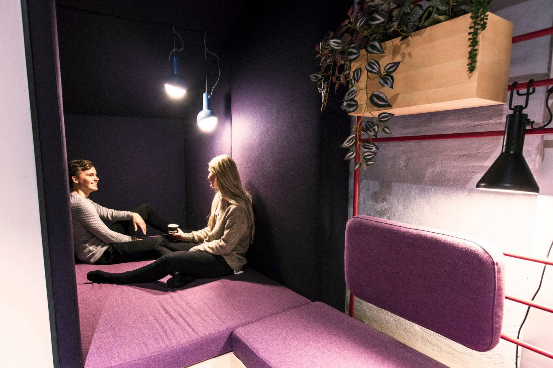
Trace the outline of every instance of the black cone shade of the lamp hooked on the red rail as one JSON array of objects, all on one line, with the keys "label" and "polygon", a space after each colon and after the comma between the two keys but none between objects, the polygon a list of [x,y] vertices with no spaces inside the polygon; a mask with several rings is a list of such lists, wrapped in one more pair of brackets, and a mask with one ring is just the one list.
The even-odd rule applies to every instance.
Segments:
[{"label": "black cone shade of the lamp hooked on the red rail", "polygon": [[502,152],[478,181],[476,188],[540,193],[522,153]]}]

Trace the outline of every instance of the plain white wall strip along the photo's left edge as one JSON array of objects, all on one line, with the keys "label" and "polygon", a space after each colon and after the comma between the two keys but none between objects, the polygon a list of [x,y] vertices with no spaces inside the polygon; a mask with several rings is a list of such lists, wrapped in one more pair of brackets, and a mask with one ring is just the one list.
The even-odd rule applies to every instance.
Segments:
[{"label": "plain white wall strip along the photo's left edge", "polygon": [[0,1],[0,126],[0,365],[52,367],[19,0]]}]

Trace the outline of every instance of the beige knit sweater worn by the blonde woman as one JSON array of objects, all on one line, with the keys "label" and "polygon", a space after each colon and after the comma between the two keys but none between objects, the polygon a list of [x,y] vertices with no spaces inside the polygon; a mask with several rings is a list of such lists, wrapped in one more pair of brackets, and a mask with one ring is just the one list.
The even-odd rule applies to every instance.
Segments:
[{"label": "beige knit sweater worn by the blonde woman", "polygon": [[252,223],[248,221],[246,210],[229,204],[216,213],[215,226],[185,234],[185,241],[202,243],[192,247],[190,252],[204,252],[221,255],[234,271],[240,271],[246,264],[246,252],[252,241]]}]

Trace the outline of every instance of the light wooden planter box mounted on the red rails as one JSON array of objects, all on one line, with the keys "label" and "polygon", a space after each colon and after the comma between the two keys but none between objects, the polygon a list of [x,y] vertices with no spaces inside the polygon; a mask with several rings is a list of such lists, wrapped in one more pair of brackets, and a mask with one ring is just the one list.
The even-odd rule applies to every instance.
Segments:
[{"label": "light wooden planter box mounted on the red rails", "polygon": [[369,60],[378,60],[382,71],[389,62],[401,61],[392,75],[394,89],[382,87],[376,77],[367,82],[367,53],[363,50],[352,62],[351,70],[362,68],[356,100],[359,107],[350,115],[369,115],[365,103],[367,94],[381,91],[387,95],[392,108],[375,108],[373,114],[387,111],[395,115],[430,113],[505,103],[509,79],[509,63],[513,23],[488,13],[488,26],[478,37],[476,70],[469,74],[468,27],[470,14],[421,29],[413,38],[399,38],[382,44],[385,54],[369,54]]}]

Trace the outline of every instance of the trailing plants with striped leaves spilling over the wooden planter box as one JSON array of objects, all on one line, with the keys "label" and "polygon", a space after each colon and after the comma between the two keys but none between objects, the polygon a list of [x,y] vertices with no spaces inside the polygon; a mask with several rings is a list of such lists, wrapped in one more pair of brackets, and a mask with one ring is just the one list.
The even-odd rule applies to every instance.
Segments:
[{"label": "trailing plants with striped leaves spilling over the wooden planter box", "polygon": [[[372,113],[373,108],[392,107],[387,95],[380,91],[371,92],[367,87],[360,89],[355,87],[361,79],[362,68],[357,67],[352,70],[352,62],[359,58],[361,50],[364,49],[367,54],[365,63],[367,82],[378,78],[380,85],[393,89],[395,81],[392,74],[398,69],[400,62],[388,63],[382,69],[380,63],[371,57],[374,54],[384,54],[382,42],[397,37],[404,40],[418,29],[468,14],[471,10],[474,11],[475,3],[486,2],[487,4],[489,1],[431,0],[429,6],[424,9],[420,4],[411,4],[411,0],[358,0],[357,7],[349,8],[347,18],[338,29],[335,32],[329,31],[316,45],[320,71],[310,75],[311,80],[317,83],[321,94],[321,111],[326,107],[332,87],[335,93],[338,88],[341,88],[340,93],[343,93],[341,108],[347,113],[352,113],[359,108],[357,94],[366,94],[366,103],[361,115],[370,115],[370,117],[364,118],[362,124],[356,125],[354,134],[342,144],[341,147],[349,148],[345,159],[353,159],[359,153],[364,168],[371,166],[375,163],[374,157],[379,151],[378,146],[372,142],[372,138],[381,133],[392,134],[390,127],[384,124],[394,115],[380,113],[375,116]],[[481,5],[478,6],[484,11],[482,15],[485,16],[487,5],[484,8]],[[474,33],[474,30],[472,32]],[[476,33],[477,36],[478,33]],[[474,59],[476,62],[476,56]],[[368,86],[368,83],[365,86]],[[358,140],[361,134],[366,134],[369,141],[361,143]],[[359,166],[360,163],[356,163],[355,169]]]}]

